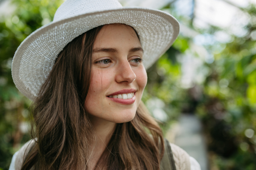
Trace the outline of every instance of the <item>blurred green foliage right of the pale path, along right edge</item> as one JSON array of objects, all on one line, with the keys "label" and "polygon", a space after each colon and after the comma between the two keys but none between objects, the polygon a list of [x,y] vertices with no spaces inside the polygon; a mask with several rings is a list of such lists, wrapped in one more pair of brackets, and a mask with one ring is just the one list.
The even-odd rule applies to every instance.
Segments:
[{"label": "blurred green foliage right of the pale path, along right edge", "polygon": [[[250,10],[256,11],[255,7]],[[248,28],[252,32],[256,25]],[[216,155],[219,170],[256,169],[255,46],[248,35],[234,37],[215,54],[212,64],[206,64],[211,74],[204,82],[204,99],[197,113],[204,122],[208,148]]]}]

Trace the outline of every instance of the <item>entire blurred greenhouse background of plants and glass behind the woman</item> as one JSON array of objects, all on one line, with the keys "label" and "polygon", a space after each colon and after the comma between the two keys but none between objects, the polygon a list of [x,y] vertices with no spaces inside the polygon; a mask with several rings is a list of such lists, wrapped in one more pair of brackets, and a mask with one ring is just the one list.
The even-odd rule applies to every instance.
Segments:
[{"label": "entire blurred greenhouse background of plants and glass behind the woman", "polygon": [[[180,35],[148,69],[143,101],[202,170],[256,170],[256,0],[119,0],[172,14]],[[18,45],[63,0],[0,0],[0,170],[27,142],[31,101],[11,75]]]}]

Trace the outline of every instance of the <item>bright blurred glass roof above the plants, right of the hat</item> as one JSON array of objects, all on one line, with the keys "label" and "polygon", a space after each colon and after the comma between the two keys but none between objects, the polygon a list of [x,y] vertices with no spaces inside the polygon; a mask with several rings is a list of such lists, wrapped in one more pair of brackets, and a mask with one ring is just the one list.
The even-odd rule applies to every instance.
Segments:
[{"label": "bright blurred glass roof above the plants, right of the hat", "polygon": [[[173,10],[167,12],[175,17],[183,16],[192,20],[195,28],[207,29],[209,26],[216,26],[238,37],[243,37],[247,33],[243,27],[250,22],[248,14],[243,9],[256,5],[256,0],[119,0],[119,2],[123,6],[155,9],[162,9],[172,4]],[[256,22],[256,18],[253,18],[253,21]]]}]

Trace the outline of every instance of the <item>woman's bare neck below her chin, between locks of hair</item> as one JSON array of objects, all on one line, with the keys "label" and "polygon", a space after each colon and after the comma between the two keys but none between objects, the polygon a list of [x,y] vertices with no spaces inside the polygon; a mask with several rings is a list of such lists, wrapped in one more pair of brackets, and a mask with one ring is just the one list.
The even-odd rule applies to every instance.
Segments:
[{"label": "woman's bare neck below her chin, between locks of hair", "polygon": [[96,142],[91,145],[92,154],[89,159],[89,170],[94,170],[94,167],[99,162],[102,153],[106,149],[108,142],[111,139],[111,136],[116,127],[116,123],[96,117],[90,117],[90,121],[97,135]]}]

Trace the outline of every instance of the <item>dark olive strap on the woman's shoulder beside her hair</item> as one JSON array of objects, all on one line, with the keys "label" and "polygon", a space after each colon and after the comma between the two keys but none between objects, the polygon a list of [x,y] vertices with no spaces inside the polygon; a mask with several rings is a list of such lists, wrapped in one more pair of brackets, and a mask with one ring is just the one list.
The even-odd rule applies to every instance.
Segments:
[{"label": "dark olive strap on the woman's shoulder beside her hair", "polygon": [[165,149],[163,159],[160,163],[160,170],[176,170],[175,162],[173,159],[172,148],[168,140],[165,139]]}]

